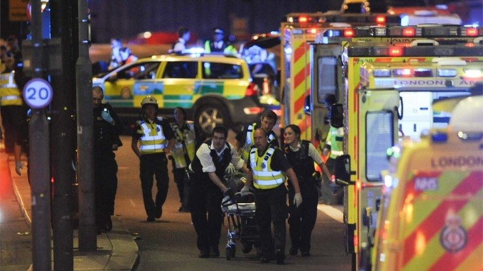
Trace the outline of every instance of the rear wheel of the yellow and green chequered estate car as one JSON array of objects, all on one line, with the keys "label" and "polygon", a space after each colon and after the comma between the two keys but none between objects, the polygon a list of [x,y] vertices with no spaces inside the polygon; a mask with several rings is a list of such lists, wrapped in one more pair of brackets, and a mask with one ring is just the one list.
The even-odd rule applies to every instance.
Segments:
[{"label": "rear wheel of the yellow and green chequered estate car", "polygon": [[230,127],[230,116],[222,105],[217,103],[202,104],[194,114],[194,121],[204,135],[211,135],[213,128],[224,125]]}]

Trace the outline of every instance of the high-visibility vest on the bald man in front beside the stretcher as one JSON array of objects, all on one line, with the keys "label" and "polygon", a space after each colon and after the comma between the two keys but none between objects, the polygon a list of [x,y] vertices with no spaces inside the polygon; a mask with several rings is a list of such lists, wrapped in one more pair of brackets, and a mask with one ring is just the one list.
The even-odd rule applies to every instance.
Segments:
[{"label": "high-visibility vest on the bald man in front beside the stretcher", "polygon": [[272,170],[272,156],[275,149],[270,147],[259,157],[258,149],[250,152],[250,166],[253,173],[253,186],[257,189],[272,189],[284,183],[285,176],[282,171]]}]

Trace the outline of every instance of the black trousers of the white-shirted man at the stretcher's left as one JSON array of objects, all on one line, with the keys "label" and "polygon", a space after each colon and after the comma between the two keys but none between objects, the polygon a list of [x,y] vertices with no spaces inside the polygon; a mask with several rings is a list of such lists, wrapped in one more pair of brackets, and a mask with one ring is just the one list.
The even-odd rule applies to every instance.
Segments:
[{"label": "black trousers of the white-shirted man at the stretcher's left", "polygon": [[190,174],[188,208],[198,235],[199,250],[218,248],[223,223],[222,199],[223,193],[207,174]]}]

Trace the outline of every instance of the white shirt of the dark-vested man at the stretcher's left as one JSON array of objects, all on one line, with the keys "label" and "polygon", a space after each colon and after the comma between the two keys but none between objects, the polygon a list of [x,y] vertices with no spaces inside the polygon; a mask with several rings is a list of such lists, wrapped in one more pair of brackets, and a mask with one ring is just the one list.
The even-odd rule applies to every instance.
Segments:
[{"label": "white shirt of the dark-vested man at the stretcher's left", "polygon": [[[235,166],[237,170],[241,169],[243,167],[244,161],[241,159],[240,154],[238,153],[237,149],[233,147],[232,144],[228,143],[231,149],[231,154],[232,154],[232,160],[231,162]],[[215,150],[213,146],[213,142],[211,143],[211,147],[208,147],[208,144],[201,144],[199,146],[198,150],[196,151],[196,156],[198,157],[201,166],[203,167],[202,170],[203,172],[215,172],[216,167],[215,164],[213,163],[213,158],[211,157],[211,150],[215,150],[216,155],[218,155],[219,158],[221,158],[221,155],[225,151],[225,149],[228,148],[226,145],[223,146],[223,149],[218,152]],[[190,169],[192,169],[191,164],[190,164]]]}]

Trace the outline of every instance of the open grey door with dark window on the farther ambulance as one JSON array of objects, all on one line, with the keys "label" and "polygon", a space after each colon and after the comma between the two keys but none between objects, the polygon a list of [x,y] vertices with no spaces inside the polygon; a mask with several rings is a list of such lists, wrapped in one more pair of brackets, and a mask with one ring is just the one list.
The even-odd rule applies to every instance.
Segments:
[{"label": "open grey door with dark window on the farther ambulance", "polygon": [[[311,116],[311,141],[322,150],[329,132],[329,118],[324,99],[328,94],[336,96],[337,103],[344,104],[343,93],[339,86],[342,84],[340,44],[310,45],[310,74],[312,85],[310,96],[306,99],[305,113]],[[344,105],[345,106],[345,105]]]}]

